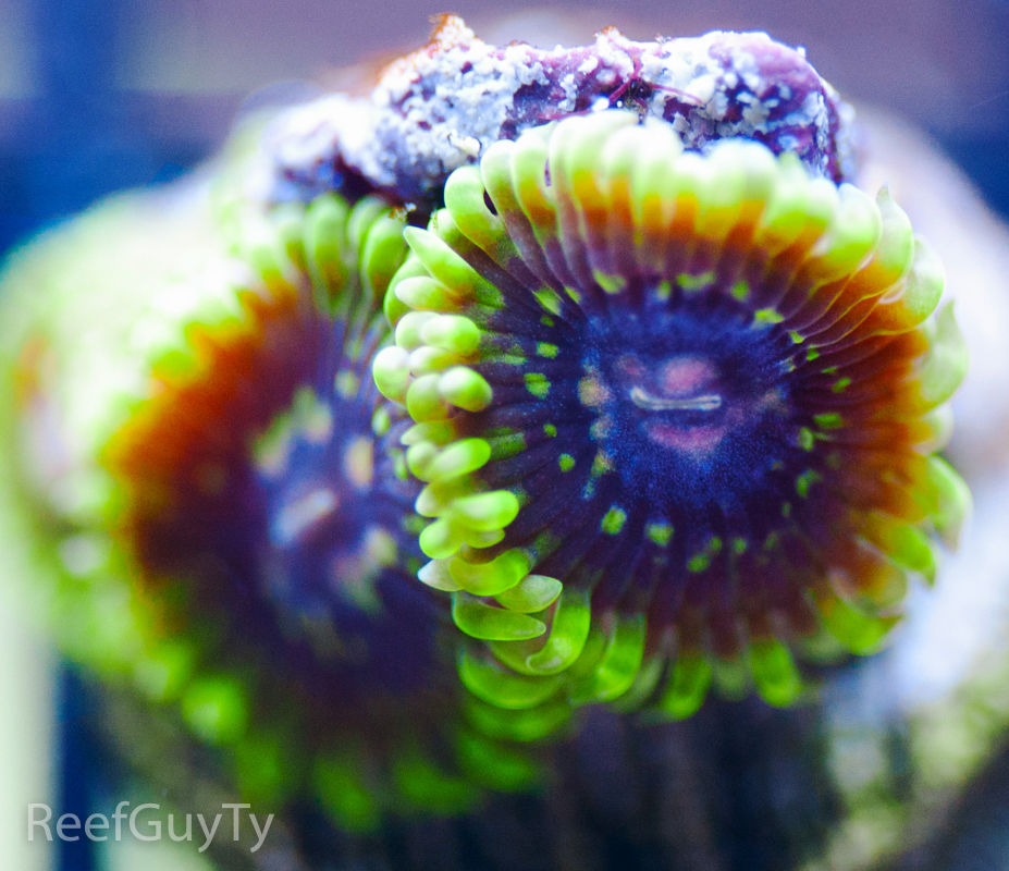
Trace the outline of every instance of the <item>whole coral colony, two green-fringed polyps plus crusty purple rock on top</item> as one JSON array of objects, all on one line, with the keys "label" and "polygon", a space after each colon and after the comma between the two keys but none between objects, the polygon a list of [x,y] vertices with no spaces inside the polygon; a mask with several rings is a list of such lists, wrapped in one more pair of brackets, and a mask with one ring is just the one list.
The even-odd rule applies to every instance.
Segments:
[{"label": "whole coral colony, two green-fringed polyps plus crusty purple rock on top", "polygon": [[969,501],[965,352],[851,123],[763,34],[446,17],[29,246],[5,430],[66,654],[361,831],[528,788],[581,706],[876,649]]}]

